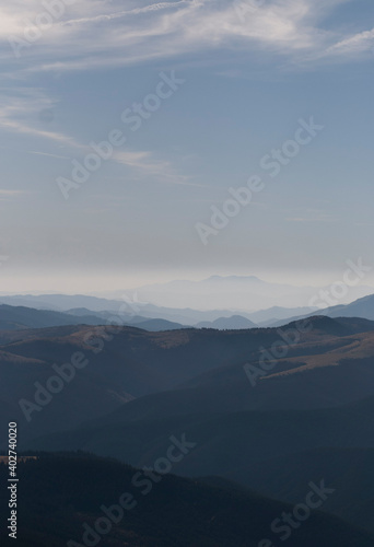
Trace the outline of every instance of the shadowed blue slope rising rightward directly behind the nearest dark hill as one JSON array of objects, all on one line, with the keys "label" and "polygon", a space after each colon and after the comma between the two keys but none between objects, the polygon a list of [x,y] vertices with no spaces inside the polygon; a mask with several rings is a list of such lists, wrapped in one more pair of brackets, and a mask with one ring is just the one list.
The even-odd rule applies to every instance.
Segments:
[{"label": "shadowed blue slope rising rightward directly behind the nearest dark hill", "polygon": [[[124,407],[124,410],[126,407]],[[120,412],[34,441],[38,450],[85,450],[152,466],[171,433],[197,447],[178,465],[188,477],[214,474],[297,503],[303,485],[324,478],[337,494],[324,508],[374,532],[374,397],[319,410],[252,411],[118,421]]]}]

